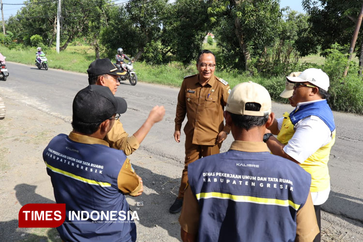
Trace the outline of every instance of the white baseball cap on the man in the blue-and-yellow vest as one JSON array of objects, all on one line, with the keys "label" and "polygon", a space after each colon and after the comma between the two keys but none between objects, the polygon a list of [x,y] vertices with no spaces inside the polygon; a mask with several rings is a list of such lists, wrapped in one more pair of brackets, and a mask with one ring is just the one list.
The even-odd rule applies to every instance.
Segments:
[{"label": "white baseball cap on the man in the blue-and-yellow vest", "polygon": [[309,68],[303,71],[299,76],[287,76],[287,80],[292,82],[310,82],[311,84],[328,91],[329,76],[321,69]]}]

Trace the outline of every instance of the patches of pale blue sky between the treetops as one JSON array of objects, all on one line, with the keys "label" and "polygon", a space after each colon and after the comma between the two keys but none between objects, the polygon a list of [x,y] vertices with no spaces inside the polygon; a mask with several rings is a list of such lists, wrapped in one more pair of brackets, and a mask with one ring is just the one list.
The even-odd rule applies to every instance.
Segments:
[{"label": "patches of pale blue sky between the treetops", "polygon": [[[124,2],[125,0],[116,0],[113,3]],[[24,0],[2,0],[2,3],[24,3]],[[15,15],[16,11],[19,10],[24,5],[3,5],[4,19],[8,19],[11,15]],[[292,10],[304,13],[301,5],[301,0],[280,0],[280,6],[289,6]]]}]

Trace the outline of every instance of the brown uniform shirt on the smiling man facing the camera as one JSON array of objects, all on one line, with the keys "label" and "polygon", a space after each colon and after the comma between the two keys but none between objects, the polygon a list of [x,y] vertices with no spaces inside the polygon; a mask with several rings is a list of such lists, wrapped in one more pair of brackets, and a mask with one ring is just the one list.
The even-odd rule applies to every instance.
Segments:
[{"label": "brown uniform shirt on the smiling man facing the camera", "polygon": [[192,143],[215,145],[221,131],[230,131],[223,119],[229,92],[228,83],[217,76],[213,75],[204,86],[200,85],[198,74],[184,77],[178,95],[175,130],[181,130],[186,115],[184,133],[193,136]]}]

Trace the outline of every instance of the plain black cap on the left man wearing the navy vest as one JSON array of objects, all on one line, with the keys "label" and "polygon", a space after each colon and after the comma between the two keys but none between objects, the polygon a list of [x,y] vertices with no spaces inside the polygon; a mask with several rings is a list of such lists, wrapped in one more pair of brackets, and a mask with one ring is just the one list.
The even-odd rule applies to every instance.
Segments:
[{"label": "plain black cap on the left man wearing the navy vest", "polygon": [[108,87],[99,85],[90,85],[78,91],[73,100],[73,119],[84,123],[101,123],[126,110],[125,99],[115,97]]}]

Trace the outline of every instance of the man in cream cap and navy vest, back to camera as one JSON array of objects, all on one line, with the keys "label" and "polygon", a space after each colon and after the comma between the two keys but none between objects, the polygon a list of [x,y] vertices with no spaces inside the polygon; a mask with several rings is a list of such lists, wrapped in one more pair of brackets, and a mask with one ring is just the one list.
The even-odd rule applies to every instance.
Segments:
[{"label": "man in cream cap and navy vest, back to camera", "polygon": [[312,242],[319,229],[311,175],[263,142],[274,120],[269,92],[257,83],[238,84],[224,115],[234,141],[227,152],[189,165],[181,240]]}]

